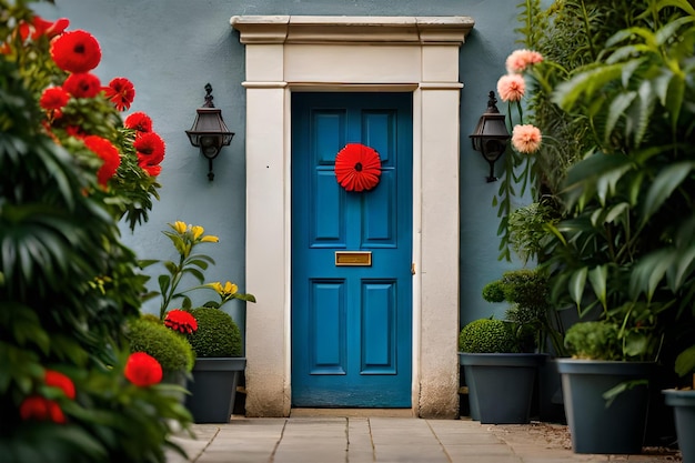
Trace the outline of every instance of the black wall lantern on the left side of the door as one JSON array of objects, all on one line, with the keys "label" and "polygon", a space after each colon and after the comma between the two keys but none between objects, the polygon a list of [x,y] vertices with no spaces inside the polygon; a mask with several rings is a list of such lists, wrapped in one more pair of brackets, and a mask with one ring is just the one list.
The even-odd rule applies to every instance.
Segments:
[{"label": "black wall lantern on the left side of the door", "polygon": [[191,144],[200,148],[200,152],[208,158],[208,179],[214,180],[212,172],[212,160],[220,154],[222,147],[229,147],[234,133],[230,132],[222,119],[222,110],[212,103],[212,85],[205,85],[205,103],[198,108],[198,114],[191,130],[187,130]]}]

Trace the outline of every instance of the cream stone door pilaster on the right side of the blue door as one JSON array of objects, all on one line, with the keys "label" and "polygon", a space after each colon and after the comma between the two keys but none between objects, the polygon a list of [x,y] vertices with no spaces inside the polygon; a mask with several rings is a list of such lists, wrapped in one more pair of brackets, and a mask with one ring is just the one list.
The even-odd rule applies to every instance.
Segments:
[{"label": "cream stone door pilaster on the right side of the blue door", "polygon": [[[422,264],[420,416],[459,414],[459,114],[460,87],[421,85]],[[447,248],[449,255],[442,245]],[[455,259],[452,259],[455,256]]]}]

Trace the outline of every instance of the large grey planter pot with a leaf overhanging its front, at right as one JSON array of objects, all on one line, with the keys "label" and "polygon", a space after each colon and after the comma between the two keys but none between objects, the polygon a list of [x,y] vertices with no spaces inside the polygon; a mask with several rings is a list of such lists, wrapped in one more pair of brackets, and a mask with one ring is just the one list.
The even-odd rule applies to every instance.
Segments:
[{"label": "large grey planter pot with a leaf overhanging its front, at right", "polygon": [[627,381],[648,380],[654,366],[653,362],[557,360],[574,452],[642,453],[648,385],[622,392],[610,406],[603,394]]}]

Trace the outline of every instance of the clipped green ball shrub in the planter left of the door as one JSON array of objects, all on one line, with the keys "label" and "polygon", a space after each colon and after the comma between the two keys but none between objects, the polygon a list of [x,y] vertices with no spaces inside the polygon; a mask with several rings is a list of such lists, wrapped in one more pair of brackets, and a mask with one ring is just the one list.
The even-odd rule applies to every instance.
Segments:
[{"label": "clipped green ball shrub in the planter left of the door", "polygon": [[191,309],[198,330],[188,335],[197,356],[241,356],[241,331],[231,315],[215,308]]}]

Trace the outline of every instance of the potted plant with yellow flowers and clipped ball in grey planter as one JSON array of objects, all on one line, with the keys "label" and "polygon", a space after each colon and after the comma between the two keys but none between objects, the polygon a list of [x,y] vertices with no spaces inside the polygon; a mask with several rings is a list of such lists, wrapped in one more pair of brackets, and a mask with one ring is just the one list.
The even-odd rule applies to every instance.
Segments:
[{"label": "potted plant with yellow flowers and clipped ball in grey planter", "polygon": [[[241,356],[239,326],[231,315],[222,311],[222,306],[232,300],[255,302],[255,298],[253,294],[239,292],[238,285],[230,281],[224,284],[203,283],[205,270],[215,262],[211,256],[197,252],[197,246],[215,243],[219,241],[216,236],[204,234],[204,229],[200,225],[181,221],[170,223],[169,227],[171,231],[163,233],[171,240],[179,259],[162,262],[167,273],[158,278],[160,291],[149,293],[148,298],[161,296],[160,319],[172,330],[187,335],[187,342],[195,355],[192,376],[187,383],[190,395],[185,400],[193,421],[226,423],[231,419],[236,384],[246,360]],[[141,265],[144,268],[159,262],[141,261]],[[187,275],[200,284],[179,290]],[[213,291],[219,300],[211,300],[192,309],[190,293],[198,290]],[[181,309],[169,310],[179,300]],[[211,375],[214,376],[213,380],[209,380]]]}]

